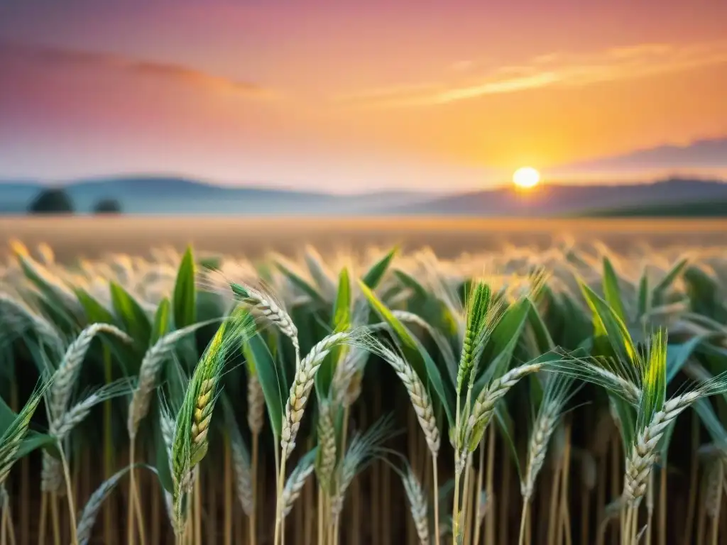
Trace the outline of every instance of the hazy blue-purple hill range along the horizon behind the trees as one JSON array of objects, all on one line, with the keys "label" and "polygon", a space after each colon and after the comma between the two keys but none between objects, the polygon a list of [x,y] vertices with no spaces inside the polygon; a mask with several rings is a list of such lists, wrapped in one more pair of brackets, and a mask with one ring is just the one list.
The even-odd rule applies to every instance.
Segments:
[{"label": "hazy blue-purple hill range along the horizon behind the trees", "polygon": [[[42,190],[35,182],[0,182],[0,213],[23,213]],[[455,195],[383,191],[330,195],[264,187],[226,187],[183,177],[109,177],[65,185],[76,210],[113,198],[130,214],[433,214],[465,216],[715,215],[727,183],[672,178],[647,184],[500,187]],[[700,206],[699,203],[710,203]],[[661,210],[658,212],[657,209]]]}]

